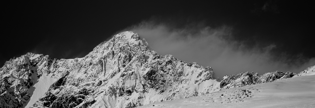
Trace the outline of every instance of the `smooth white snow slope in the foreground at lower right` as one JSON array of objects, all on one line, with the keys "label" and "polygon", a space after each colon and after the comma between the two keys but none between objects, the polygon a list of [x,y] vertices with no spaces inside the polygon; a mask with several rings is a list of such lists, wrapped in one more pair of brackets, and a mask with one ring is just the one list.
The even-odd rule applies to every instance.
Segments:
[{"label": "smooth white snow slope in the foreground at lower right", "polygon": [[315,75],[225,89],[139,108],[315,108]]}]

